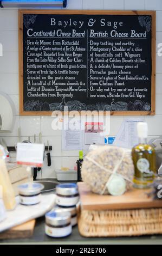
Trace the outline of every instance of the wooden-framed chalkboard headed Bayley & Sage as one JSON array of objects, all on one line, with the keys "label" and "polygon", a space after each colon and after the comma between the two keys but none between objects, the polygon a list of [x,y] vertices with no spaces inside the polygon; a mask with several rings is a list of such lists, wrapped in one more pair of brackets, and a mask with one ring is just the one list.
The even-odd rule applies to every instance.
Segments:
[{"label": "wooden-framed chalkboard headed Bayley & Sage", "polygon": [[155,114],[155,11],[19,10],[20,114]]}]

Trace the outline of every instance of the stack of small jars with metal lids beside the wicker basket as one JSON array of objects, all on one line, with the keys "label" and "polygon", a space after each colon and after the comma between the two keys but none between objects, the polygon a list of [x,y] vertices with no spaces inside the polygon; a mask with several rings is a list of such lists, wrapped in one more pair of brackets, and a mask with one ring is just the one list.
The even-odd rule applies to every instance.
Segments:
[{"label": "stack of small jars with metal lids beside the wicker basket", "polygon": [[77,184],[64,183],[56,186],[56,206],[46,214],[46,234],[51,237],[64,237],[72,233],[77,224]]}]

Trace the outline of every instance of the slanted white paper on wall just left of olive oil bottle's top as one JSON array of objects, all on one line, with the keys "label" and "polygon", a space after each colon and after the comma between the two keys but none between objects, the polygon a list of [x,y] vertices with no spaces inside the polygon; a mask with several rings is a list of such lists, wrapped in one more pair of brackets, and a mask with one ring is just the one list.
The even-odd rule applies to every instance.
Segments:
[{"label": "slanted white paper on wall just left of olive oil bottle's top", "polygon": [[143,122],[144,118],[125,119],[113,142],[114,146],[133,148],[138,144],[137,123]]}]

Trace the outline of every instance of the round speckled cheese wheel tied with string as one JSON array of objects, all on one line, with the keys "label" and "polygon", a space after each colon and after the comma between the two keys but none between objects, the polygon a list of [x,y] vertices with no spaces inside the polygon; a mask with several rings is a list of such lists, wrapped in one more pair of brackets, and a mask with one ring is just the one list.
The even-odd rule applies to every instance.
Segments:
[{"label": "round speckled cheese wheel tied with string", "polygon": [[125,190],[132,187],[134,166],[131,154],[122,148],[100,146],[86,155],[81,169],[82,180],[92,192],[109,194],[106,185],[114,170],[125,180]]}]

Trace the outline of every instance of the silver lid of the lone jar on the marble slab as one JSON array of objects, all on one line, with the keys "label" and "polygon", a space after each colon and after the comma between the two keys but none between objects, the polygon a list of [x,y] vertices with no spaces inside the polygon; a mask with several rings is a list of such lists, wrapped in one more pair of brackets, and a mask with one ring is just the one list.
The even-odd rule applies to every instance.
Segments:
[{"label": "silver lid of the lone jar on the marble slab", "polygon": [[18,186],[18,192],[22,196],[33,196],[34,194],[39,194],[43,190],[44,186],[37,182],[27,182]]}]

